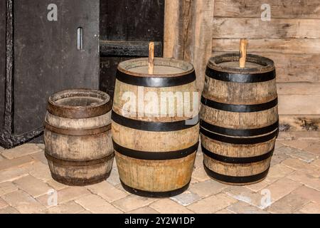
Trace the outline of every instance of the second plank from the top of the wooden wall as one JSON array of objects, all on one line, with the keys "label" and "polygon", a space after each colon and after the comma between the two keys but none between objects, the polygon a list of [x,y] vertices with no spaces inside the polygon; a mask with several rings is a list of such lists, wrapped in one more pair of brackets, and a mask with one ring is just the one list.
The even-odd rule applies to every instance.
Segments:
[{"label": "second plank from the top of the wooden wall", "polygon": [[[290,8],[291,9],[291,8]],[[213,19],[213,38],[320,38],[319,19]]]}]

